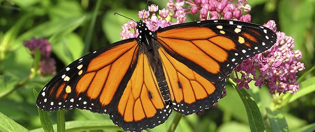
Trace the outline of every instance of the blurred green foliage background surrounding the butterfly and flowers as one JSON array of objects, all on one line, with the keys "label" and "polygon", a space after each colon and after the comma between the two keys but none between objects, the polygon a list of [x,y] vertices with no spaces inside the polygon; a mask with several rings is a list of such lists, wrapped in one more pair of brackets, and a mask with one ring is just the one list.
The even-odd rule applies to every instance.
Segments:
[{"label": "blurred green foliage background surrounding the butterfly and flowers", "polygon": [[[165,1],[153,1],[165,7]],[[139,20],[146,1],[0,1],[0,131],[82,131],[122,129],[106,115],[83,110],[46,112],[37,109],[37,92],[52,78],[40,76],[35,59],[23,41],[48,39],[60,70],[80,56],[120,40],[121,26]],[[164,4],[164,5],[161,5]],[[227,84],[227,96],[215,109],[181,116],[173,113],[149,131],[314,131],[314,1],[253,1],[252,19],[272,18],[278,30],[295,39],[307,72],[301,72],[296,94],[271,95],[268,88],[238,90]],[[263,14],[263,15],[262,15]],[[230,85],[232,84],[232,85]],[[34,90],[33,90],[34,89]],[[33,91],[32,91],[33,90]],[[34,93],[33,93],[34,92]],[[57,115],[57,117],[55,117]]]}]

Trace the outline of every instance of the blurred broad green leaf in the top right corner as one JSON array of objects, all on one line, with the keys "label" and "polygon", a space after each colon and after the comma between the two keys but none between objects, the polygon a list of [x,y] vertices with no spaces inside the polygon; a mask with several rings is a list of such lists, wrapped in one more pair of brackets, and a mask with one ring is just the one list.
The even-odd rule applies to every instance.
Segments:
[{"label": "blurred broad green leaf in the top right corner", "polygon": [[292,36],[295,39],[294,48],[300,49],[303,56],[306,55],[309,60],[312,60],[314,55],[312,52],[308,52],[309,49],[306,49],[304,44],[305,36],[310,34],[310,32],[307,31],[313,26],[313,7],[314,2],[307,0],[279,1],[278,4],[279,25],[281,31],[286,32],[288,36]]}]

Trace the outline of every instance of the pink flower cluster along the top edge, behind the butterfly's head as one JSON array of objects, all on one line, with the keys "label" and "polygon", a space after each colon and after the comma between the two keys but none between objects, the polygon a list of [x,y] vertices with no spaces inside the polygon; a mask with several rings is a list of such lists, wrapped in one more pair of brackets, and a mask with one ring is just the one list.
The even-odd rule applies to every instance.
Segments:
[{"label": "pink flower cluster along the top edge, behind the butterfly's head", "polygon": [[[138,13],[151,31],[157,30],[159,27],[166,27],[173,24],[183,23],[186,20],[186,14],[196,15],[198,12],[200,20],[210,19],[231,19],[244,22],[250,22],[249,14],[242,15],[244,12],[249,12],[251,7],[247,5],[246,0],[239,0],[237,5],[231,3],[232,0],[170,0],[166,7],[167,9],[159,10],[159,6],[150,5],[148,11],[141,10]],[[159,17],[157,16],[159,11]],[[151,14],[151,17],[150,17]],[[176,18],[176,22],[172,22],[167,17]],[[120,32],[121,40],[138,37],[138,30],[135,21],[124,23]]]}]

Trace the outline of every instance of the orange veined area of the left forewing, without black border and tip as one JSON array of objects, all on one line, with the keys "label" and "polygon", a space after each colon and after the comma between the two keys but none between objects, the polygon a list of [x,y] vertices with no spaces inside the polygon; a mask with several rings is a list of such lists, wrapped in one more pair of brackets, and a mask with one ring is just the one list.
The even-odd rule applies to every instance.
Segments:
[{"label": "orange veined area of the left forewing, without black border and tip", "polygon": [[76,92],[86,92],[90,100],[99,97],[102,106],[111,103],[122,78],[134,61],[139,48],[137,44],[137,41],[125,43],[93,58],[76,84]]}]

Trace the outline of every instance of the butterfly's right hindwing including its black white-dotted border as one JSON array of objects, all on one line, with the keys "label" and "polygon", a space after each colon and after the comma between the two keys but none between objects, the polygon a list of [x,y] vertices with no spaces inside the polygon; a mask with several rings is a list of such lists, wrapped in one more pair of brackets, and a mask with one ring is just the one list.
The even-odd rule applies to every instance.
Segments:
[{"label": "butterfly's right hindwing including its black white-dotted border", "polygon": [[190,115],[211,108],[222,96],[225,79],[214,83],[159,49],[175,111]]}]

